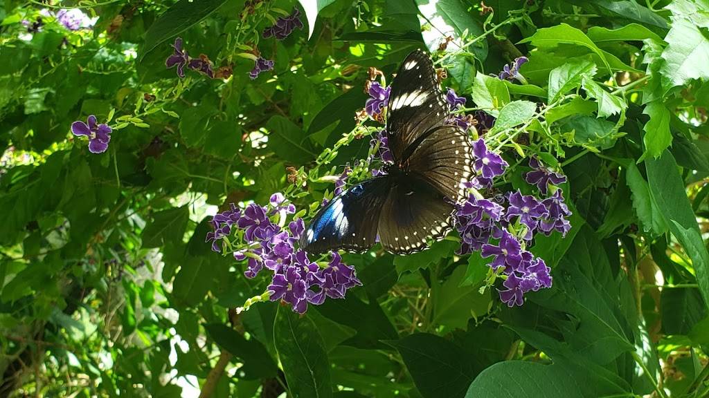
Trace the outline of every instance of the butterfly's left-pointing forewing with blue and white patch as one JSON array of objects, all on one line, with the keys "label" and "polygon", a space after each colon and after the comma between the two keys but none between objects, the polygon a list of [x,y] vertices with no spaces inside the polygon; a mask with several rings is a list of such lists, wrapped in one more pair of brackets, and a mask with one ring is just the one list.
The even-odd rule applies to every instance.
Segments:
[{"label": "butterfly's left-pointing forewing with blue and white patch", "polygon": [[301,249],[313,254],[338,249],[367,251],[376,240],[389,186],[388,176],[370,178],[330,200],[303,233]]}]

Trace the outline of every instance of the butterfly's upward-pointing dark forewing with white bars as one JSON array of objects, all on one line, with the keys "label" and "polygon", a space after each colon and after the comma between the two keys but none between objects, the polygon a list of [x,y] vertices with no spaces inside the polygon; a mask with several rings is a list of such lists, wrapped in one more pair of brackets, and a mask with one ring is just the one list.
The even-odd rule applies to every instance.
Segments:
[{"label": "butterfly's upward-pointing dark forewing with white bars", "polygon": [[447,117],[447,103],[438,88],[433,62],[421,50],[411,52],[401,63],[389,93],[386,131],[393,158],[402,159],[411,143],[443,125]]}]

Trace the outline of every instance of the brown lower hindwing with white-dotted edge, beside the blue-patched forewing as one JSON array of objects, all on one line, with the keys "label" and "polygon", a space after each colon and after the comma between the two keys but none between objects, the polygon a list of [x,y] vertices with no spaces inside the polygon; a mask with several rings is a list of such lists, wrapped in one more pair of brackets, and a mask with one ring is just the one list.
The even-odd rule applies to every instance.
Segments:
[{"label": "brown lower hindwing with white-dotted edge, beside the blue-patched forewing", "polygon": [[452,202],[416,176],[401,176],[392,186],[379,217],[379,239],[386,251],[411,254],[426,249],[450,231]]}]

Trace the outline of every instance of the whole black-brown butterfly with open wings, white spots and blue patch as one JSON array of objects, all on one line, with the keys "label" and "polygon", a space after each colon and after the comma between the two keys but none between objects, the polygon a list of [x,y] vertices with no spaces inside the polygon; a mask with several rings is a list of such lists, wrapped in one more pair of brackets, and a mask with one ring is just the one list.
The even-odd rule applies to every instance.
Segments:
[{"label": "whole black-brown butterfly with open wings, white spots and blue patch", "polygon": [[409,254],[442,239],[472,161],[467,132],[445,125],[449,116],[430,57],[412,52],[391,83],[386,131],[394,163],[320,209],[301,248],[366,251],[379,235],[386,251]]}]

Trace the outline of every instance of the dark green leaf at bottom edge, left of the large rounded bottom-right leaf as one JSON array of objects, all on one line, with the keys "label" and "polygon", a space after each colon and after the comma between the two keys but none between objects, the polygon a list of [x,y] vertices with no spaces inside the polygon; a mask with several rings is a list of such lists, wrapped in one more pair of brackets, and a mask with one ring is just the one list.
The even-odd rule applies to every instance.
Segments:
[{"label": "dark green leaf at bottom edge, left of the large rounded bottom-right leaf", "polygon": [[477,373],[462,348],[435,334],[415,333],[386,343],[401,354],[424,398],[462,398]]}]

